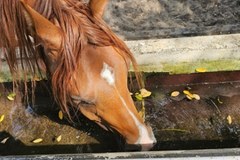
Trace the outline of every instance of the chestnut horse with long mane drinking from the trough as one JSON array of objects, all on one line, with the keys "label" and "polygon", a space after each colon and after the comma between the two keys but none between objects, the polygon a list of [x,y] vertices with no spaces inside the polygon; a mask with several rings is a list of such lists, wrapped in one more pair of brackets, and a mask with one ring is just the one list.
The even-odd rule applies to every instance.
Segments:
[{"label": "chestnut horse with long mane drinking from the trough", "polygon": [[130,65],[143,87],[141,75],[129,48],[102,18],[107,3],[1,0],[0,45],[14,82],[19,77],[26,82],[29,75],[34,82],[37,74],[44,73],[55,101],[69,118],[74,108],[119,133],[126,144],[150,150],[156,139],[130,95]]}]

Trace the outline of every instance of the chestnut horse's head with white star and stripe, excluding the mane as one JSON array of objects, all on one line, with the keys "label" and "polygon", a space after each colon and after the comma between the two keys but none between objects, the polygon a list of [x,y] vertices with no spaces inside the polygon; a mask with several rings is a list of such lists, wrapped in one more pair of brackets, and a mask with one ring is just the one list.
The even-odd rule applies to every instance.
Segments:
[{"label": "chestnut horse's head with white star and stripe, excluding the mane", "polygon": [[[53,92],[62,109],[68,113],[71,104],[103,128],[120,133],[127,144],[149,150],[156,139],[151,127],[139,116],[127,86],[130,62],[135,63],[133,56],[118,46],[97,45],[87,36],[79,43],[74,37],[80,37],[82,32],[74,22],[67,25],[73,25],[71,36],[81,49],[64,48],[69,35],[59,22],[45,18],[23,0],[21,4],[30,34],[44,47]],[[106,4],[107,0],[91,0],[91,17],[101,21]]]}]

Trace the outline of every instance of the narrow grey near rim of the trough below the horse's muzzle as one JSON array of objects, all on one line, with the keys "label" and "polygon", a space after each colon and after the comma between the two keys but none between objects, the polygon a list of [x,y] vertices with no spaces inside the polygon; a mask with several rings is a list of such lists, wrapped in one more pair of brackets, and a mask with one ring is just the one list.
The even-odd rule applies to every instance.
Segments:
[{"label": "narrow grey near rim of the trough below the horse's muzzle", "polygon": [[179,151],[149,151],[122,153],[86,153],[68,155],[23,155],[5,156],[0,159],[162,159],[162,160],[191,160],[191,159],[240,159],[239,148],[208,149],[208,150],[179,150]]}]

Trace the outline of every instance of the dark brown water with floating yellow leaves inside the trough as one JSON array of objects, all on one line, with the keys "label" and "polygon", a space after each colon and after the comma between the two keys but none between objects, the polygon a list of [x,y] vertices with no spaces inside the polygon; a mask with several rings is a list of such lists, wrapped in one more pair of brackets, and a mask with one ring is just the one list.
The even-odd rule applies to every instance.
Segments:
[{"label": "dark brown water with floating yellow leaves inside the trough", "polygon": [[[153,127],[158,140],[153,150],[239,147],[238,74],[235,73],[235,79],[231,78],[233,72],[146,74],[146,88],[152,92],[152,96],[145,99],[146,121]],[[197,81],[197,77],[202,79]],[[183,93],[178,97],[170,96],[172,91],[186,89],[198,94],[201,100],[190,101]],[[6,98],[8,92],[11,92],[11,85],[5,84],[5,89],[1,87],[0,115],[5,115],[5,119],[0,123],[0,141],[9,137],[0,144],[1,155],[124,151],[119,136],[103,131],[83,116],[79,115],[75,124],[60,120],[59,109],[43,85],[36,91],[35,106],[24,105],[21,96],[9,101]],[[136,104],[140,106],[140,102]],[[228,116],[232,119],[231,124]],[[57,142],[59,135],[62,140]],[[43,142],[34,144],[33,140],[37,138],[42,138]]]}]

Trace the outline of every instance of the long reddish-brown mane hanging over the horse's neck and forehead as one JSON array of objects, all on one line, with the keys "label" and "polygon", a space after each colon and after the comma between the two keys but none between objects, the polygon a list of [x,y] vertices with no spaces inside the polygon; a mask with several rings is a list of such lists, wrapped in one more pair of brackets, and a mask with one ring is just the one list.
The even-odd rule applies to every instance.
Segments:
[{"label": "long reddish-brown mane hanging over the horse's neck and forehead", "polygon": [[[87,3],[81,0],[37,0],[33,8],[58,25],[65,33],[60,49],[61,60],[54,73],[51,74],[47,70],[47,75],[52,82],[54,97],[63,112],[70,115],[67,104],[69,100],[67,87],[86,42],[96,46],[114,46],[117,48],[116,51],[125,59],[126,65],[127,59],[130,59],[138,84],[143,86],[136,60],[131,51],[101,18],[92,15]],[[28,36],[29,31],[19,0],[0,1],[0,23],[3,24],[0,26],[0,44],[4,48],[4,55],[14,77],[13,81],[18,79],[16,77],[19,77],[21,70],[23,74],[20,77],[23,77],[25,84],[29,78],[26,76],[27,73],[30,74],[31,81],[34,82],[34,77],[39,73],[41,74],[37,58],[41,57],[46,67],[48,64],[37,47],[35,37],[33,40]],[[19,52],[16,51],[16,46],[19,47]],[[20,64],[18,64],[19,56]],[[27,89],[25,90],[27,91]]]}]

